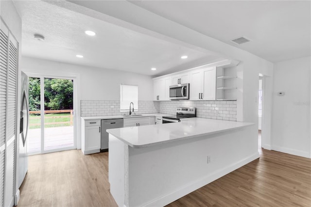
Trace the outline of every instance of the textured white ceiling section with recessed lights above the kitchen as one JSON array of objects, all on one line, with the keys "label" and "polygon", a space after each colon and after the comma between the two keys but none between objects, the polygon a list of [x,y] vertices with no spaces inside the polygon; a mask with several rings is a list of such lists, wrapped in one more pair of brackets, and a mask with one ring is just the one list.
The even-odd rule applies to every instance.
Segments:
[{"label": "textured white ceiling section with recessed lights above the kitchen", "polygon": [[[215,55],[135,32],[45,1],[14,1],[22,18],[22,55],[160,75],[218,59]],[[84,32],[91,30],[96,36]],[[38,41],[34,34],[42,34]],[[84,58],[76,58],[81,54]],[[187,55],[188,59],[181,59]],[[183,66],[184,65],[184,66]],[[151,71],[156,67],[156,71]],[[177,69],[176,69],[177,68]]]}]

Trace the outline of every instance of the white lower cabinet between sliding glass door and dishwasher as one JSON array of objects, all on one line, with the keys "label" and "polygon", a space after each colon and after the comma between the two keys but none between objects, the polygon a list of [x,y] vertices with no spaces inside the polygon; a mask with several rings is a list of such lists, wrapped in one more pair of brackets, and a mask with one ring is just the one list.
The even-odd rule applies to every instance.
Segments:
[{"label": "white lower cabinet between sliding glass door and dishwasher", "polygon": [[84,155],[101,150],[101,120],[82,120],[81,150]]}]

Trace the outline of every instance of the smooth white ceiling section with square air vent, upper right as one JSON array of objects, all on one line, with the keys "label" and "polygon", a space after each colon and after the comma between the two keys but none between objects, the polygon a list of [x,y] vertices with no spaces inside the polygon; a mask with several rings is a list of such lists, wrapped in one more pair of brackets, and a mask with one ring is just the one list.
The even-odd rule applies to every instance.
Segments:
[{"label": "smooth white ceiling section with square air vent, upper right", "polygon": [[[131,3],[271,62],[311,55],[311,1],[137,0]],[[230,40],[245,36],[251,42]]]}]

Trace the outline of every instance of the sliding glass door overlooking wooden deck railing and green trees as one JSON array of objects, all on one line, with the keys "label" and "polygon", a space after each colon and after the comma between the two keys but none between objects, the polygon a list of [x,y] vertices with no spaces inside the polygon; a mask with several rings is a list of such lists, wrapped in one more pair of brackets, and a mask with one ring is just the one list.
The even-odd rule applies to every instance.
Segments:
[{"label": "sliding glass door overlooking wooden deck railing and green trees", "polygon": [[73,79],[29,77],[28,155],[76,149]]}]

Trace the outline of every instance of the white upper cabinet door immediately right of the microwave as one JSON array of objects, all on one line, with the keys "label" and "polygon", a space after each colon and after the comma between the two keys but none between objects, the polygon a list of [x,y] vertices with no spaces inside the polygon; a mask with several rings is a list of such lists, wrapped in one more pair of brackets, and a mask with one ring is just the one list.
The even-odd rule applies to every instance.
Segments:
[{"label": "white upper cabinet door immediately right of the microwave", "polygon": [[190,73],[190,100],[202,100],[203,71],[195,70]]}]

